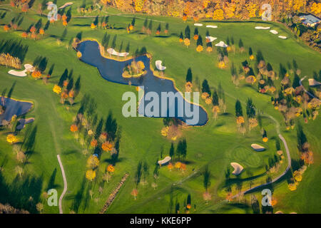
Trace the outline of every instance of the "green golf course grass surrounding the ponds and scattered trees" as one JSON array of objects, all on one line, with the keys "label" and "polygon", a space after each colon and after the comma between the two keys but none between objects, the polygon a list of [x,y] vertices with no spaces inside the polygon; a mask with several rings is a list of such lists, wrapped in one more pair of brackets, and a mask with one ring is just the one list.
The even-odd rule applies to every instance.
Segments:
[{"label": "green golf course grass surrounding the ponds and scattered trees", "polygon": [[[4,4],[7,2],[4,1]],[[63,2],[65,1],[58,1],[61,5]],[[73,6],[73,14],[77,14],[76,6],[80,3],[81,1],[77,1]],[[47,68],[51,64],[55,64],[54,74],[49,79],[48,85],[45,85],[41,80],[35,81],[30,76],[15,78],[7,73],[9,68],[0,66],[0,90],[9,89],[16,82],[13,98],[29,100],[34,103],[34,109],[26,116],[34,117],[36,119],[34,125],[37,126],[36,147],[29,158],[28,164],[24,166],[23,178],[16,178],[14,167],[17,162],[14,152],[12,152],[11,145],[6,142],[6,131],[0,131],[0,165],[4,164],[4,170],[0,174],[4,177],[5,185],[8,186],[19,186],[28,177],[39,178],[41,180],[39,181],[40,184],[37,185],[39,194],[34,195],[34,202],[36,202],[35,197],[39,197],[52,183],[51,177],[54,177],[54,187],[58,190],[58,195],[61,194],[63,180],[56,158],[56,155],[60,154],[68,182],[68,190],[63,199],[64,213],[72,210],[78,213],[99,212],[125,172],[128,172],[130,176],[120,192],[118,192],[111,207],[108,208],[107,213],[174,212],[174,206],[177,202],[180,204],[180,211],[183,212],[183,205],[188,194],[192,196],[193,207],[190,209],[191,213],[252,213],[253,211],[248,205],[238,204],[238,202],[223,202],[226,195],[225,188],[229,185],[235,191],[236,182],[242,182],[243,190],[245,190],[250,187],[250,181],[253,181],[256,185],[265,182],[267,178],[265,165],[268,164],[268,159],[276,153],[275,138],[277,138],[277,132],[275,123],[270,118],[263,118],[263,127],[267,130],[269,141],[262,142],[258,128],[248,131],[245,135],[238,133],[234,108],[236,98],[242,102],[243,113],[245,113],[246,100],[252,98],[258,109],[275,118],[280,123],[280,131],[290,147],[292,160],[299,159],[296,147],[296,132],[295,130],[285,130],[282,115],[270,104],[270,95],[259,94],[255,86],[248,86],[244,82],[240,83],[238,88],[235,88],[230,79],[230,63],[234,62],[235,66],[239,67],[241,62],[248,60],[248,48],[250,47],[253,48],[253,53],[257,53],[259,50],[262,51],[265,61],[271,63],[275,71],[278,71],[280,63],[283,66],[287,66],[287,63],[292,63],[293,59],[297,61],[298,68],[302,71],[300,77],[312,77],[313,71],[320,70],[320,53],[312,51],[304,43],[297,40],[282,24],[262,21],[218,22],[201,20],[204,25],[215,24],[218,26],[218,28],[198,27],[203,38],[205,38],[205,32],[208,29],[210,36],[218,37],[217,41],[226,41],[228,37],[230,39],[233,37],[235,46],[238,46],[239,39],[242,38],[243,40],[246,51],[240,53],[237,48],[235,54],[229,53],[229,66],[222,70],[217,67],[218,54],[215,48],[213,48],[212,53],[206,53],[205,51],[198,53],[195,51],[195,41],[193,39],[189,48],[178,42],[180,31],[184,31],[186,25],[190,26],[191,35],[193,34],[194,26],[192,21],[183,23],[181,19],[148,16],[148,19],[155,21],[153,21],[153,34],[147,36],[140,31],[146,15],[137,14],[134,31],[127,33],[126,26],[131,23],[133,15],[121,14],[116,16],[113,14],[120,12],[116,11],[116,9],[109,9],[109,23],[115,24],[116,29],[108,29],[107,31],[102,29],[93,30],[89,26],[93,18],[74,18],[71,19],[67,26],[68,33],[65,40],[58,46],[56,39],[63,33],[61,21],[51,25],[44,38],[40,38],[37,41],[30,38],[24,40],[21,38],[21,31],[11,30],[4,32],[2,26],[9,24],[9,21],[19,14],[19,11],[11,11],[9,6],[1,6],[0,11],[3,8],[10,9],[10,11],[7,12],[4,19],[0,20],[1,39],[21,40],[23,44],[29,46],[24,63],[33,63],[36,56],[46,56],[49,59]],[[104,15],[103,13],[101,14]],[[34,11],[30,11],[24,15],[24,22],[21,27],[26,29],[31,23],[36,23],[40,18],[45,24],[45,16],[40,17]],[[169,23],[168,36],[155,36],[155,31],[159,24],[158,21],[162,21],[163,28],[165,28],[166,22]],[[255,26],[271,26],[279,31],[280,35],[288,38],[281,40],[269,31],[255,30]],[[131,90],[134,92],[136,88],[110,83],[100,76],[96,68],[79,61],[76,57],[76,51],[73,51],[71,47],[66,48],[68,41],[76,36],[79,31],[82,31],[83,39],[95,38],[98,41],[101,41],[105,32],[111,34],[112,37],[117,34],[116,50],[121,45],[121,42],[123,42],[123,48],[129,42],[131,54],[136,48],[146,46],[148,52],[153,56],[152,66],[155,68],[155,61],[162,60],[163,65],[167,67],[165,76],[173,78],[180,91],[185,90],[185,75],[189,67],[193,71],[194,88],[198,88],[203,79],[206,78],[211,89],[221,83],[225,90],[227,113],[219,115],[218,119],[214,120],[210,106],[206,105],[203,100],[200,101],[200,104],[209,113],[209,120],[207,125],[203,127],[190,127],[183,130],[183,137],[188,142],[187,170],[182,173],[177,170],[170,171],[167,167],[161,167],[156,190],[151,187],[151,183],[154,180],[153,169],[156,165],[155,162],[160,157],[162,146],[164,147],[163,156],[168,155],[170,148],[170,141],[161,136],[163,120],[161,118],[123,117],[121,108],[125,102],[121,100],[121,97],[126,91]],[[203,42],[205,44],[205,41]],[[109,43],[111,44],[111,41]],[[59,103],[58,96],[52,92],[54,83],[58,82],[65,68],[73,70],[73,78],[81,75],[81,94],[70,110],[66,110],[66,105],[63,107]],[[88,182],[84,177],[87,170],[86,160],[88,155],[83,155],[84,148],[81,147],[69,130],[73,116],[76,115],[79,108],[78,102],[81,96],[86,93],[94,97],[98,103],[98,115],[106,119],[109,111],[112,111],[118,125],[121,126],[120,161],[116,164],[116,172],[111,180],[105,183],[102,182],[101,175],[103,170],[106,170],[110,155],[107,153],[102,155],[96,180]],[[307,124],[302,121],[303,129],[312,151],[315,152],[315,164],[307,168],[303,175],[303,180],[295,192],[288,190],[286,179],[273,185],[274,196],[277,198],[275,211],[321,212],[320,206],[315,200],[320,198],[321,195],[319,178],[321,174],[321,145],[317,137],[317,135],[320,135],[320,128],[318,127],[320,122],[320,117],[314,121],[310,120]],[[265,146],[267,150],[255,152],[250,148],[252,143],[259,143]],[[282,150],[285,151],[283,145]],[[134,200],[130,193],[135,187],[134,175],[140,160],[148,162],[150,175],[147,177],[148,185],[138,186],[138,199]],[[231,174],[230,178],[225,180],[225,170],[228,167],[230,167],[231,171],[233,170],[230,162],[240,163],[245,170],[239,177],[233,177]],[[193,175],[194,170],[202,170],[205,165],[208,165],[211,172],[210,192],[212,193],[212,199],[208,204],[205,204],[202,196],[204,192],[203,175],[200,172],[196,172]],[[272,177],[276,177],[278,173],[285,170],[286,165],[287,160],[285,159],[279,172],[273,174]],[[52,185],[50,186],[52,187]],[[103,187],[102,193],[98,192],[99,187]],[[89,195],[89,190],[93,191],[92,199],[91,195]],[[24,195],[24,198],[29,199],[29,192],[21,192],[21,194]],[[256,192],[255,195],[260,201],[262,197],[260,192]],[[22,207],[18,200],[19,197],[19,195],[16,195],[16,200],[14,200],[15,197],[11,196],[10,199],[12,200],[9,203],[15,207]],[[43,198],[39,197],[39,199],[44,202]],[[248,197],[248,199],[250,198]],[[170,209],[171,207],[172,209]],[[29,208],[33,209],[32,212],[35,212],[34,205]],[[58,213],[58,207],[46,205],[44,212]]]}]

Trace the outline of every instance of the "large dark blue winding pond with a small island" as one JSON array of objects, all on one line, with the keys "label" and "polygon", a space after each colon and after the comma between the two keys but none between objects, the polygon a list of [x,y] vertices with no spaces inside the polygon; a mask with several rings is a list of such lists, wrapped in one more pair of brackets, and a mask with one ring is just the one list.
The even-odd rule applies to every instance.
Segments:
[{"label": "large dark blue winding pond with a small island", "polygon": [[[144,90],[144,102],[141,102],[138,107],[138,113],[148,116],[148,117],[175,117],[188,125],[205,125],[208,121],[208,114],[204,110],[203,107],[196,104],[190,104],[181,93],[177,93],[178,90],[175,88],[173,81],[165,78],[159,78],[153,74],[151,71],[150,63],[151,59],[145,56],[138,56],[134,59],[130,59],[128,61],[116,61],[109,58],[104,58],[101,56],[101,52],[99,50],[99,44],[96,41],[83,41],[78,44],[77,51],[81,52],[81,61],[84,63],[88,63],[91,66],[95,66],[98,68],[101,76],[107,81],[113,83],[120,84],[131,84],[132,86],[143,86]],[[131,64],[131,62],[135,61],[143,61],[146,68],[146,75],[141,76],[141,78],[123,78],[123,68]],[[168,99],[166,103],[166,107],[162,107],[162,103],[158,102],[159,107],[156,108],[156,115],[146,115],[144,110],[146,110],[148,106],[148,99],[145,99],[146,94],[151,94],[149,92],[157,93],[158,97],[161,98],[163,93],[175,93],[176,97],[173,100]],[[193,94],[190,95],[193,97]],[[152,102],[152,99],[149,99]],[[161,99],[160,99],[161,100]],[[183,100],[183,104],[178,102],[178,100]],[[182,106],[183,105],[183,106]],[[151,105],[149,105],[151,106]],[[184,107],[184,108],[182,108]],[[162,111],[165,109],[166,111]],[[180,111],[178,110],[180,108]],[[195,113],[197,118],[190,113]],[[196,121],[195,121],[196,120]]]}]

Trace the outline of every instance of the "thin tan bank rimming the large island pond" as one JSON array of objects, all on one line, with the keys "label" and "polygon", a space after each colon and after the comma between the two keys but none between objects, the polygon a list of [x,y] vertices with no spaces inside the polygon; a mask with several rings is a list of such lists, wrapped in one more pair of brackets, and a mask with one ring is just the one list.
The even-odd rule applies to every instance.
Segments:
[{"label": "thin tan bank rimming the large island pond", "polygon": [[[77,43],[77,47],[78,47],[78,45],[79,45],[80,43],[83,43],[83,42],[85,42],[85,41],[95,41],[96,43],[98,43],[99,52],[100,52],[100,54],[101,54],[101,56],[102,56],[103,58],[107,58],[107,59],[110,59],[110,60],[113,60],[113,61],[118,61],[118,62],[129,61],[129,60],[132,60],[132,59],[136,58],[136,57],[134,57],[134,56],[128,56],[128,57],[123,58],[123,59],[111,58],[110,56],[106,55],[105,48],[101,45],[101,43],[100,43],[96,38],[85,38],[85,39],[82,39],[80,42]],[[76,48],[73,48],[73,49],[74,49],[76,52],[78,52],[78,50],[77,50]],[[152,65],[153,65],[153,64],[152,64],[153,55],[152,55],[151,53],[146,53],[146,54],[143,54],[143,55],[141,55],[141,56],[146,56],[147,58],[149,58],[149,60],[150,60],[150,69],[151,69],[151,71],[153,72],[153,76],[154,76],[154,77],[172,81],[175,90],[177,90],[177,91],[182,95],[182,97],[183,97],[183,99],[185,100],[185,102],[190,103],[191,105],[198,105],[200,108],[203,108],[203,110],[205,111],[206,115],[208,115],[208,110],[206,110],[206,108],[205,108],[203,105],[198,104],[198,103],[194,103],[194,102],[192,102],[192,101],[188,101],[188,100],[185,99],[185,97],[183,96],[183,92],[181,92],[181,91],[177,88],[176,83],[175,83],[175,80],[174,80],[173,78],[168,78],[167,76],[157,76],[157,75],[155,74],[155,71],[156,71],[156,70],[155,70],[154,68],[152,68]],[[78,58],[78,57],[76,56],[76,58]],[[81,58],[78,58],[78,60],[81,61]],[[82,61],[82,62],[83,62],[83,61]],[[83,62],[83,63],[85,63],[85,62]],[[88,63],[86,63],[86,64],[88,64]],[[99,74],[101,74],[101,73],[99,72]],[[130,79],[130,78],[128,78],[128,79]],[[106,80],[106,81],[108,81],[108,80]],[[113,83],[116,83],[116,82],[113,82]],[[121,83],[117,83],[117,84],[121,84]],[[124,84],[124,85],[126,85],[126,84]],[[142,96],[142,98],[143,98],[143,96]],[[139,101],[141,101],[141,99],[138,100],[138,102],[139,102]],[[146,116],[146,118],[148,118],[148,117]],[[152,118],[155,118],[155,117],[152,117]],[[163,117],[158,117],[158,118],[163,118]],[[188,124],[186,124],[183,120],[182,120],[182,122],[184,123],[183,125],[188,126],[188,127],[203,127],[203,126],[205,126],[205,125],[208,124],[209,120],[210,120],[210,118],[209,118],[209,115],[208,115],[208,118],[207,118],[207,120],[206,120],[206,123],[204,123],[203,125],[188,125]]]}]

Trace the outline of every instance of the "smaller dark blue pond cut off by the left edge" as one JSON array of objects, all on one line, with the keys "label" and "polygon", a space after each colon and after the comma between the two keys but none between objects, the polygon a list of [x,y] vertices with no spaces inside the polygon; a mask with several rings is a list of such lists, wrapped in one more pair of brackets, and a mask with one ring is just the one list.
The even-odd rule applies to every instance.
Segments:
[{"label": "smaller dark blue pond cut off by the left edge", "polygon": [[12,116],[24,115],[32,108],[32,103],[20,100],[14,100],[0,96],[0,105],[5,107],[4,113],[0,115],[0,125],[2,120],[10,121]]}]

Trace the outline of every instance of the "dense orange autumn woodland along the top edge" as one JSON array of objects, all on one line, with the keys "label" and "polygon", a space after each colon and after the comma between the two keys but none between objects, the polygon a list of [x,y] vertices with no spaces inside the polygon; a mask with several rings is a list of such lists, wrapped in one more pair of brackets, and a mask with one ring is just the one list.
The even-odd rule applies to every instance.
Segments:
[{"label": "dense orange autumn woodland along the top edge", "polygon": [[272,6],[272,19],[280,19],[285,14],[311,12],[320,14],[320,3],[317,0],[253,0],[253,1],[223,1],[223,0],[195,0],[195,1],[150,1],[150,0],[116,0],[106,3],[123,11],[145,12],[153,15],[180,16],[183,20],[188,17],[194,21],[200,18],[223,19],[250,19],[263,14],[261,6]]}]

